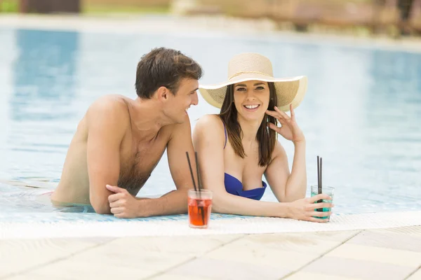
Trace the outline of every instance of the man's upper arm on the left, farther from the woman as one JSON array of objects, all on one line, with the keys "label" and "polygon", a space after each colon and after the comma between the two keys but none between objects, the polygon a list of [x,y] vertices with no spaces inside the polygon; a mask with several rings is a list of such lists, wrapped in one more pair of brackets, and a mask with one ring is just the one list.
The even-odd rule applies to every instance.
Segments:
[{"label": "man's upper arm on the left, farther from the woman", "polygon": [[98,214],[110,214],[107,184],[116,186],[120,172],[120,144],[128,125],[126,104],[103,97],[86,113],[88,123],[89,200]]}]

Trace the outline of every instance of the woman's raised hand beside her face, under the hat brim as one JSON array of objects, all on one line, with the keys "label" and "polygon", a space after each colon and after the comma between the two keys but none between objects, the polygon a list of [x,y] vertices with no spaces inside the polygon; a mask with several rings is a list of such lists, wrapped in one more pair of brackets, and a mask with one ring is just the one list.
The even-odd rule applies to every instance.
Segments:
[{"label": "woman's raised hand beside her face, under the hat brim", "polygon": [[266,111],[267,115],[276,118],[281,123],[281,127],[277,127],[273,123],[269,123],[269,127],[282,135],[283,138],[293,141],[300,142],[304,141],[305,137],[298,124],[295,122],[295,113],[293,105],[290,104],[291,116],[288,116],[285,112],[278,109],[275,106],[275,111]]}]

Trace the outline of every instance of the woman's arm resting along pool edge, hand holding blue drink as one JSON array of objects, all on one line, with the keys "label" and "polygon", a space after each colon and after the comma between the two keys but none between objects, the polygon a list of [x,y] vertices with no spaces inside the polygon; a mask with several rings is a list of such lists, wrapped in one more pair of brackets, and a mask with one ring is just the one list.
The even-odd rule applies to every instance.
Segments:
[{"label": "woman's arm resting along pool edge, hand holding blue drink", "polygon": [[[270,216],[296,218],[306,221],[323,222],[312,216],[327,216],[326,212],[316,212],[312,197],[292,203],[262,202],[227,193],[224,185],[224,144],[225,134],[218,116],[203,116],[193,132],[193,146],[198,153],[203,187],[213,191],[213,211],[224,214],[247,216]],[[325,198],[326,199],[326,198]],[[325,206],[326,207],[326,206]]]}]

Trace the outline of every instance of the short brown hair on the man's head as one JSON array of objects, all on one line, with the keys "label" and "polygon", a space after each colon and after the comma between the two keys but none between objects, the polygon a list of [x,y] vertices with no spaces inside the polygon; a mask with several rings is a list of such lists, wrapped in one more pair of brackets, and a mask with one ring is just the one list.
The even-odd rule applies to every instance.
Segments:
[{"label": "short brown hair on the man's head", "polygon": [[175,94],[182,78],[199,80],[201,76],[201,66],[179,50],[154,48],[138,63],[136,93],[142,99],[149,99],[163,86]]}]

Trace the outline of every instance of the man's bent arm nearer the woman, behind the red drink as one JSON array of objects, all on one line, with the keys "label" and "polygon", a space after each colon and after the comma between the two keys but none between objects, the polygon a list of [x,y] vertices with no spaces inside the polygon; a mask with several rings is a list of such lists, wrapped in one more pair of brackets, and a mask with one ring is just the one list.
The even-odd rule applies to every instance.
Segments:
[{"label": "man's bent arm nearer the woman, behind the red drink", "polygon": [[[142,209],[147,209],[147,216],[173,215],[187,213],[187,190],[193,188],[192,176],[187,164],[186,152],[189,153],[190,163],[196,171],[196,160],[192,144],[192,130],[186,116],[185,123],[175,125],[167,145],[168,165],[177,190],[156,199],[139,200]],[[194,172],[196,180],[196,172]]]}]

